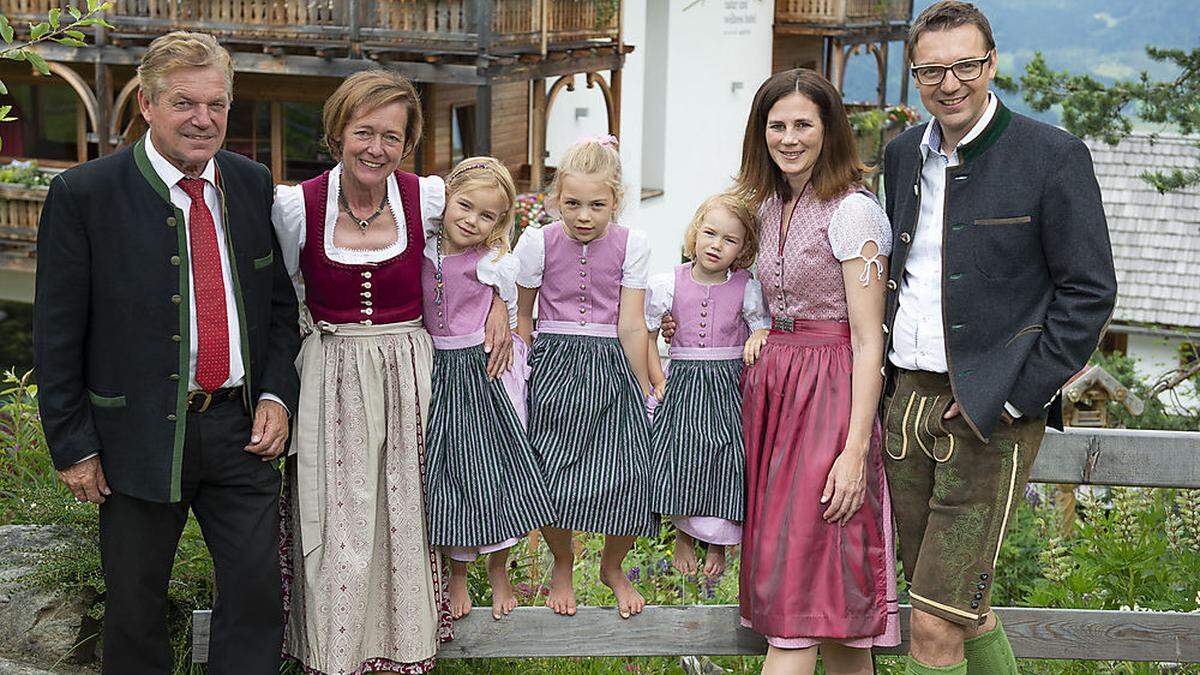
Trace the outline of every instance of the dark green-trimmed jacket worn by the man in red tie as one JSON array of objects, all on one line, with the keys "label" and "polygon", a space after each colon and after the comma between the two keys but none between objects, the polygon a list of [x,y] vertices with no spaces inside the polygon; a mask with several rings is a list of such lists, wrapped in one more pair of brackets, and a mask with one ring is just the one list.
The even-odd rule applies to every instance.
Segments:
[{"label": "dark green-trimmed jacket worn by the man in red tie", "polygon": [[[34,352],[54,466],[100,453],[109,486],[179,501],[187,422],[188,274],[184,214],[145,139],[58,175],[37,231]],[[296,298],[271,227],[271,175],[217,153],[251,408],[262,392],[296,410]],[[248,442],[248,438],[247,438]]]}]

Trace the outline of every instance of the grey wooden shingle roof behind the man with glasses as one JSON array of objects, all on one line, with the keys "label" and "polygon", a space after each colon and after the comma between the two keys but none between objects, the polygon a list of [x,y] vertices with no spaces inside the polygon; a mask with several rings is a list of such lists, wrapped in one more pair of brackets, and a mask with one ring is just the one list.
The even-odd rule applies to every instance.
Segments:
[{"label": "grey wooden shingle roof behind the man with glasses", "polygon": [[1146,171],[1200,163],[1198,138],[1133,135],[1118,145],[1088,139],[1112,239],[1115,323],[1200,328],[1200,186],[1159,195]]}]

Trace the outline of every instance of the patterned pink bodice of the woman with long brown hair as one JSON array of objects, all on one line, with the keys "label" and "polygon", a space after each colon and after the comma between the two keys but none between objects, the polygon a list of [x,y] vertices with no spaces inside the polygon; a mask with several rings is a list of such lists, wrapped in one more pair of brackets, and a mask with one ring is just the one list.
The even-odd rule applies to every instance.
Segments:
[{"label": "patterned pink bodice of the woman with long brown hair", "polygon": [[784,202],[779,196],[758,209],[758,281],[772,317],[815,321],[848,321],[846,286],[841,262],[829,245],[829,222],[847,190],[839,197],[822,201],[806,187],[800,195],[787,238],[780,243]]}]

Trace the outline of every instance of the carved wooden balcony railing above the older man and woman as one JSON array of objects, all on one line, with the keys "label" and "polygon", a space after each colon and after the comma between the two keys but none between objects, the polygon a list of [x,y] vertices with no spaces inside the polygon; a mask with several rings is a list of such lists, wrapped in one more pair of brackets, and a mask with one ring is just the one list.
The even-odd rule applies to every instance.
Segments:
[{"label": "carved wooden balcony railing above the older man and woman", "polygon": [[[198,30],[227,40],[348,46],[358,42],[455,46],[474,50],[478,17],[490,12],[491,43],[612,41],[624,0],[113,0],[118,36]],[[62,0],[0,0],[14,25],[44,20]]]}]

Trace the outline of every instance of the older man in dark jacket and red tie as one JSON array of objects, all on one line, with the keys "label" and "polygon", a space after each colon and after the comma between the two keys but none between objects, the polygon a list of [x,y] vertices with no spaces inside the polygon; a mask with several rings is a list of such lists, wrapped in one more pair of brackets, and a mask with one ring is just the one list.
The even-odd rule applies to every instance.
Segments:
[{"label": "older man in dark jacket and red tie", "polygon": [[167,585],[196,512],[216,567],[210,673],[277,673],[280,472],[296,410],[296,299],[271,228],[271,177],[220,150],[229,54],[150,43],[150,132],[50,184],[34,345],[54,465],[100,503],[104,673],[168,674]]}]

